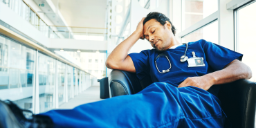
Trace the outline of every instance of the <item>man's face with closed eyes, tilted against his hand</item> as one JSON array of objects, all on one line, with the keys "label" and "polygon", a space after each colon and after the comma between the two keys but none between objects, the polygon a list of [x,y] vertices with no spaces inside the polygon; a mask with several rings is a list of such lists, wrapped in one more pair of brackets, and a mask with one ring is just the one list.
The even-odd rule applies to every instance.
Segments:
[{"label": "man's face with closed eyes, tilted against his hand", "polygon": [[144,24],[143,33],[145,39],[157,51],[166,51],[172,44],[172,29],[169,22],[163,26],[156,19],[150,19]]}]

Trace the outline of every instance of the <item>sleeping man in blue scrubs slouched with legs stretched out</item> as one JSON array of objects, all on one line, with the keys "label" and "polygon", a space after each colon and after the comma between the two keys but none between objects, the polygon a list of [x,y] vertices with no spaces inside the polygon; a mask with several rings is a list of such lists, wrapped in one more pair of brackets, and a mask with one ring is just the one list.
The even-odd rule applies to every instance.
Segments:
[{"label": "sleeping man in blue scrubs slouched with legs stretched out", "polygon": [[[154,83],[143,91],[31,119],[12,102],[0,102],[0,126],[223,127],[218,84],[250,79],[250,68],[240,53],[203,39],[181,44],[175,32],[168,17],[150,12],[107,58],[108,68],[136,73],[140,80],[150,76]],[[147,39],[152,50],[128,55],[138,39]]]}]

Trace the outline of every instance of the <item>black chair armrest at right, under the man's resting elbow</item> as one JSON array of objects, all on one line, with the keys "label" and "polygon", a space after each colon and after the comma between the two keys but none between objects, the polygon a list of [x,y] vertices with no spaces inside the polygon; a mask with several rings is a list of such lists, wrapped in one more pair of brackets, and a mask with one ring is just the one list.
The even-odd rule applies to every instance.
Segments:
[{"label": "black chair armrest at right, under the man's resting elbow", "polygon": [[219,100],[221,100],[221,107],[232,123],[232,127],[254,127],[256,110],[255,82],[237,80],[229,84],[223,84],[218,96]]}]

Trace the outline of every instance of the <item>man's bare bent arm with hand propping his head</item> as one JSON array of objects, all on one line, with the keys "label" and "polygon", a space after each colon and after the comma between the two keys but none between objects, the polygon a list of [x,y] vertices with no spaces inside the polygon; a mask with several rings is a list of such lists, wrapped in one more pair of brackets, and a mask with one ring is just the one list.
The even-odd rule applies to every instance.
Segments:
[{"label": "man's bare bent arm with hand propping his head", "polygon": [[106,66],[111,69],[118,69],[129,72],[136,72],[134,67],[134,62],[132,62],[131,57],[128,53],[132,46],[138,41],[138,39],[143,39],[143,21],[144,18],[138,23],[136,31],[132,33],[127,39],[118,44],[116,48],[112,51],[106,60]]}]

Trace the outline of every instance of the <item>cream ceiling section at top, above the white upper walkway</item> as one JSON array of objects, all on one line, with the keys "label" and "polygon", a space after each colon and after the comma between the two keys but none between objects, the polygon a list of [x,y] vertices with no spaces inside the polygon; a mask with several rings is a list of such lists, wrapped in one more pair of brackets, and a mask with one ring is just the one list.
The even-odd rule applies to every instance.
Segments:
[{"label": "cream ceiling section at top, above the white upper walkway", "polygon": [[59,2],[59,9],[68,26],[105,27],[107,0],[52,0]]}]

